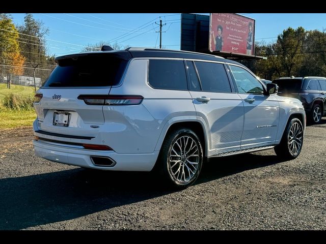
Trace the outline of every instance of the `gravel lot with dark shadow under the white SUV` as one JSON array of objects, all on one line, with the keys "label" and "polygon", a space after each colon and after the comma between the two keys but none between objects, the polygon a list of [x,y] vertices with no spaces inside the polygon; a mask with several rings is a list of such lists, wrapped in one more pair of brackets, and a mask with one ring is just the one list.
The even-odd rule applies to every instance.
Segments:
[{"label": "gravel lot with dark shadow under the white SUV", "polygon": [[301,155],[216,158],[183,191],[150,173],[89,171],[34,156],[32,128],[0,132],[0,230],[325,230],[326,119]]}]

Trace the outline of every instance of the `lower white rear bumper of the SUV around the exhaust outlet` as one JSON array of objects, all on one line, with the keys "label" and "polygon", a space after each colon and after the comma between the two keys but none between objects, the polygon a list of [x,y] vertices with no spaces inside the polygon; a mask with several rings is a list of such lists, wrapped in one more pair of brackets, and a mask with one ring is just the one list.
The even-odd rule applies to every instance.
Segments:
[{"label": "lower white rear bumper of the SUV around the exhaust outlet", "polygon": [[[43,159],[79,167],[115,171],[151,171],[159,153],[154,151],[151,154],[117,154],[115,151],[72,148],[41,140],[33,140],[33,145],[35,154]],[[116,164],[113,167],[96,166],[91,156],[109,157]]]}]

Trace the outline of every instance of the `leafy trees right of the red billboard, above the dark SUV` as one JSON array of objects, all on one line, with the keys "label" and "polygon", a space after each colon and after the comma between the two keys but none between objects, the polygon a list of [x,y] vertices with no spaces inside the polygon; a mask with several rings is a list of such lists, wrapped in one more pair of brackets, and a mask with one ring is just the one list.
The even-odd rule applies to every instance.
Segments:
[{"label": "leafy trees right of the red billboard, above the dark SUV", "polygon": [[257,43],[255,54],[266,56],[267,60],[255,61],[254,69],[261,78],[269,80],[292,75],[320,75],[322,71],[316,67],[320,63],[318,55],[325,53],[317,54],[314,50],[320,50],[322,41],[326,44],[326,39],[322,39],[318,31],[308,32],[303,27],[289,27],[278,35],[275,43]]}]

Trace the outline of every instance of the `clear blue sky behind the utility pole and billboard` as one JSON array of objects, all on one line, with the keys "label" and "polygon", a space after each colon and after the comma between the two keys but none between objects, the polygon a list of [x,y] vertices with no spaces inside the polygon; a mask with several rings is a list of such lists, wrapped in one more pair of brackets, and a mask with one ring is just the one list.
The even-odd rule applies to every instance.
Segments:
[{"label": "clear blue sky behind the utility pole and billboard", "polygon": [[[202,13],[209,15],[208,13]],[[239,13],[256,20],[255,40],[273,42],[287,27],[303,26],[306,30],[326,28],[326,14],[287,14],[287,13]],[[22,24],[24,14],[13,13],[15,24]],[[103,13],[35,13],[34,18],[43,21],[49,28],[46,36],[48,54],[64,55],[80,52],[83,46],[99,41],[118,42],[120,45],[137,47],[158,47],[159,16],[163,23],[162,45],[169,49],[180,49],[180,14],[103,14]],[[137,32],[133,30],[138,28]],[[124,35],[124,36],[122,36]],[[127,36],[128,35],[128,36]],[[21,40],[23,41],[23,40]]]}]

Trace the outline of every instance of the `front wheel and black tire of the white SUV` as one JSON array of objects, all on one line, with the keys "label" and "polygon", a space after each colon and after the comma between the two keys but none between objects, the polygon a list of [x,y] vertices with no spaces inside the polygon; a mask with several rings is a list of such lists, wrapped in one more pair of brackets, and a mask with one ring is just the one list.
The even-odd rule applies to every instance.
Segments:
[{"label": "front wheel and black tire of the white SUV", "polygon": [[292,118],[284,130],[280,144],[274,147],[276,155],[287,160],[295,159],[301,153],[303,139],[303,126],[300,119]]}]

